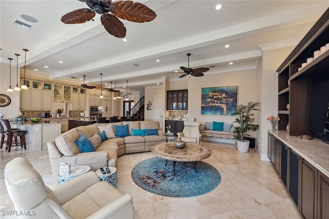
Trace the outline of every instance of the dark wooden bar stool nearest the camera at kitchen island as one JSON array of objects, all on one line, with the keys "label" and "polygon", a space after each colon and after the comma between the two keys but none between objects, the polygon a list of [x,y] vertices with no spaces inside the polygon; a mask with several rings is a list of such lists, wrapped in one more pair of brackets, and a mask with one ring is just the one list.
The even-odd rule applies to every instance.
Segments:
[{"label": "dark wooden bar stool nearest the camera at kitchen island", "polygon": [[[0,123],[2,125],[2,130],[4,130],[6,136],[7,136],[7,145],[6,150],[8,149],[8,152],[10,152],[11,147],[14,146],[21,146],[24,149],[26,149],[26,141],[25,141],[25,135],[27,133],[26,130],[13,130],[10,127],[10,123],[8,120],[0,120]],[[17,137],[20,137],[20,143],[17,141]],[[15,139],[15,144],[13,145],[13,138]]]}]

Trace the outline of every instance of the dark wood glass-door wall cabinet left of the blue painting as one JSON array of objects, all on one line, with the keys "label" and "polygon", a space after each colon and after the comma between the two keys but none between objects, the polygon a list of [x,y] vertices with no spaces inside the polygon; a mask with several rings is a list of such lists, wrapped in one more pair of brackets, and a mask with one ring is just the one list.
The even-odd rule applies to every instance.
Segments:
[{"label": "dark wood glass-door wall cabinet left of the blue painting", "polygon": [[188,90],[167,91],[167,110],[188,110]]}]

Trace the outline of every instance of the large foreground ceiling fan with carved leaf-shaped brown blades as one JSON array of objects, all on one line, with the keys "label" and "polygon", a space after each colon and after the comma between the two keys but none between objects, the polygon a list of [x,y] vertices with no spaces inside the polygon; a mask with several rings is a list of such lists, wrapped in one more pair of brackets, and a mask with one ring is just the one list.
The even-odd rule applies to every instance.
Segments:
[{"label": "large foreground ceiling fan with carved leaf-shaped brown blades", "polygon": [[[94,21],[93,18],[96,13],[102,14],[101,23],[105,30],[118,38],[123,38],[125,36],[126,29],[117,17],[137,23],[150,22],[156,17],[154,11],[138,2],[112,2],[111,0],[78,1],[86,3],[90,9],[81,8],[64,14],[61,18],[64,24],[82,24],[90,20]],[[111,12],[111,14],[108,12]]]}]

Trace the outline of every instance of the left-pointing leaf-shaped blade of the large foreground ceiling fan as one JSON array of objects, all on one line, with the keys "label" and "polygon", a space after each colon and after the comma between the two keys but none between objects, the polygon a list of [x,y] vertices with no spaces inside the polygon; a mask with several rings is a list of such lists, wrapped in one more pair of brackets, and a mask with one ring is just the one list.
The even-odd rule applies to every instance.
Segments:
[{"label": "left-pointing leaf-shaped blade of the large foreground ceiling fan", "polygon": [[80,8],[64,14],[61,21],[64,24],[82,24],[93,19],[95,15],[96,13],[88,8]]}]

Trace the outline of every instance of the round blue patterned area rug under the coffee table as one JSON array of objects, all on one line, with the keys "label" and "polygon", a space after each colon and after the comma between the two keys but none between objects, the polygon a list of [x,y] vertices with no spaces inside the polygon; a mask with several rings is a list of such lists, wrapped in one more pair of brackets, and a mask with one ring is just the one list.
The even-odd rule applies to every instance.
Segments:
[{"label": "round blue patterned area rug under the coffee table", "polygon": [[141,188],[159,195],[192,197],[214,190],[222,180],[220,172],[203,161],[198,161],[196,170],[192,162],[177,162],[176,175],[173,162],[160,157],[138,163],[132,170],[134,182]]}]

